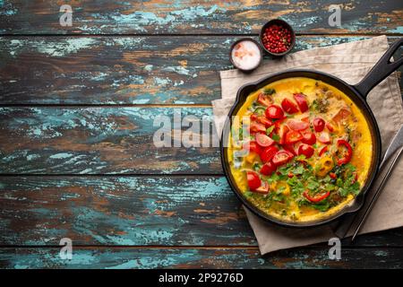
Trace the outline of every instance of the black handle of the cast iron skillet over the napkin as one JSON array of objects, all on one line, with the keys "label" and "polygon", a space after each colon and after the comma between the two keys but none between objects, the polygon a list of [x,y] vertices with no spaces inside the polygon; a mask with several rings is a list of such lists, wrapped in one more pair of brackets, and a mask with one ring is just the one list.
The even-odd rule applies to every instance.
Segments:
[{"label": "black handle of the cast iron skillet over the napkin", "polygon": [[403,64],[403,57],[399,60],[390,62],[390,57],[398,50],[400,46],[403,45],[403,38],[395,41],[390,48],[386,51],[381,59],[373,66],[371,71],[364,76],[364,79],[360,83],[354,85],[354,88],[363,95],[364,99],[368,93],[373,90],[373,87],[378,83],[381,83],[388,75],[396,71],[400,65]]}]

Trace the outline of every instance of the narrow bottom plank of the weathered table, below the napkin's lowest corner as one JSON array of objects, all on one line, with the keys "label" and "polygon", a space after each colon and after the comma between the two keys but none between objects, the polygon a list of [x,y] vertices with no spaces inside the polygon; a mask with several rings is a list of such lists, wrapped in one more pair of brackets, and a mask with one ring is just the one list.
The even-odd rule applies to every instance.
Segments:
[{"label": "narrow bottom plank of the weathered table, below the napkin's lowest corner", "polygon": [[344,248],[330,260],[329,248],[295,248],[261,257],[257,248],[0,248],[0,268],[396,268],[402,248]]}]

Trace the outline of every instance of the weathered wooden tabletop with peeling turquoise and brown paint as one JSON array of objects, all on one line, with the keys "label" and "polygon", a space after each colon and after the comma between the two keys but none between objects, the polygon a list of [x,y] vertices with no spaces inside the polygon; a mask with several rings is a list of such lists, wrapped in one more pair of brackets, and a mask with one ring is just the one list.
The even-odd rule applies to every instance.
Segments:
[{"label": "weathered wooden tabletop with peeling turquoise and brown paint", "polygon": [[[282,17],[295,50],[403,34],[403,2],[0,0],[0,266],[403,267],[403,229],[261,257],[218,148],[158,149],[157,115],[210,115],[230,44]],[[59,242],[73,240],[73,259]]]}]

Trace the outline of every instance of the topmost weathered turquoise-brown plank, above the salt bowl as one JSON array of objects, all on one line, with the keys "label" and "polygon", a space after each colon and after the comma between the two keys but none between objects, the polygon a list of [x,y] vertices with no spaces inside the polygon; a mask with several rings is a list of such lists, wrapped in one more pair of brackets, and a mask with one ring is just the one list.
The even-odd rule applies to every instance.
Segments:
[{"label": "topmost weathered turquoise-brown plank, above the salt bowl", "polygon": [[[257,33],[281,17],[298,33],[401,33],[395,0],[340,4],[341,27],[328,23],[334,1],[74,1],[73,26],[59,24],[60,1],[0,1],[0,32],[8,34]],[[339,4],[339,3],[336,3]]]}]

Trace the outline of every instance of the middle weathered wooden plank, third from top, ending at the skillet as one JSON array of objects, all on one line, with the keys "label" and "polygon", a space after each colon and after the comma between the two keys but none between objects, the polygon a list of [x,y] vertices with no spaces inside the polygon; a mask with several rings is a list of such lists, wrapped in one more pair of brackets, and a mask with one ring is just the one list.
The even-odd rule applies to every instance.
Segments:
[{"label": "middle weathered wooden plank, third from top, ending at the skillet", "polygon": [[[176,111],[179,118],[211,116],[205,108],[0,108],[0,173],[222,174],[217,147],[154,145],[159,116],[179,143]],[[194,138],[203,134],[212,132]]]}]

